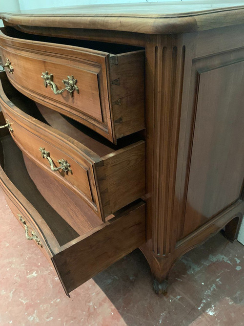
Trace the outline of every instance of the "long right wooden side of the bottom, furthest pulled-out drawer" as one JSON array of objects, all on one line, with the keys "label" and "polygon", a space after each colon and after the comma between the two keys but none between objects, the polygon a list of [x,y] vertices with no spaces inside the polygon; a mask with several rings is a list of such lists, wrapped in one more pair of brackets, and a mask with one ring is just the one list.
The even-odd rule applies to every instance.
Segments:
[{"label": "long right wooden side of the bottom, furthest pulled-out drawer", "polygon": [[70,292],[145,242],[145,204],[121,212],[53,259]]}]

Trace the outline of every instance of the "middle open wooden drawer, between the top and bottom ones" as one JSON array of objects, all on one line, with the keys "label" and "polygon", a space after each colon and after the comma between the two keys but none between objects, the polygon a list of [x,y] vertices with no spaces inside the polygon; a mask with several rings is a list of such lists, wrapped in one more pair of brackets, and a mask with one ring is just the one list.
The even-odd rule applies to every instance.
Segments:
[{"label": "middle open wooden drawer, between the top and bottom ones", "polygon": [[[143,140],[134,141],[136,138],[132,137],[128,145],[124,146],[123,142],[121,147],[108,141],[103,144],[94,135],[72,127],[58,112],[39,105],[49,124],[55,125],[52,128],[36,104],[12,87],[4,73],[1,73],[1,80],[0,106],[21,151],[37,167],[80,196],[103,221],[144,195]],[[46,123],[25,113],[33,114],[35,110]]]}]

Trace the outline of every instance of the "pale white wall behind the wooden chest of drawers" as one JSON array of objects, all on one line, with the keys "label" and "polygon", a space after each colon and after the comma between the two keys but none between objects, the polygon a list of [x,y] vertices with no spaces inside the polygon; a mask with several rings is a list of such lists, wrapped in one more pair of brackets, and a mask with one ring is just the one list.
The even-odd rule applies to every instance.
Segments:
[{"label": "pale white wall behind the wooden chest of drawers", "polygon": [[[65,7],[67,5],[81,5],[81,4],[102,4],[102,3],[137,3],[137,2],[169,2],[175,0],[1,0],[0,12],[16,11],[16,10],[29,10],[50,7]],[[185,1],[185,0],[183,0]],[[189,0],[188,0],[189,1]],[[2,22],[0,21],[0,27]],[[238,241],[244,245],[244,220],[239,232]]]}]

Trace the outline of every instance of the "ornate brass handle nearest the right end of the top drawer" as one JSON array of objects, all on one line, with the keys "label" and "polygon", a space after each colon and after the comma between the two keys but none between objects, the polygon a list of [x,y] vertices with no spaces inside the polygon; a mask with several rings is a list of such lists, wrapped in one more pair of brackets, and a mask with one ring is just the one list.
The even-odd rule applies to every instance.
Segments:
[{"label": "ornate brass handle nearest the right end of the top drawer", "polygon": [[63,89],[58,89],[56,84],[53,82],[53,74],[48,75],[48,71],[42,72],[41,78],[44,79],[44,85],[47,87],[48,85],[51,87],[54,94],[61,94],[65,90],[67,90],[71,97],[73,97],[73,92],[76,90],[79,94],[79,88],[76,86],[77,79],[74,78],[74,76],[67,76],[68,79],[63,79],[62,82],[66,86]]}]

